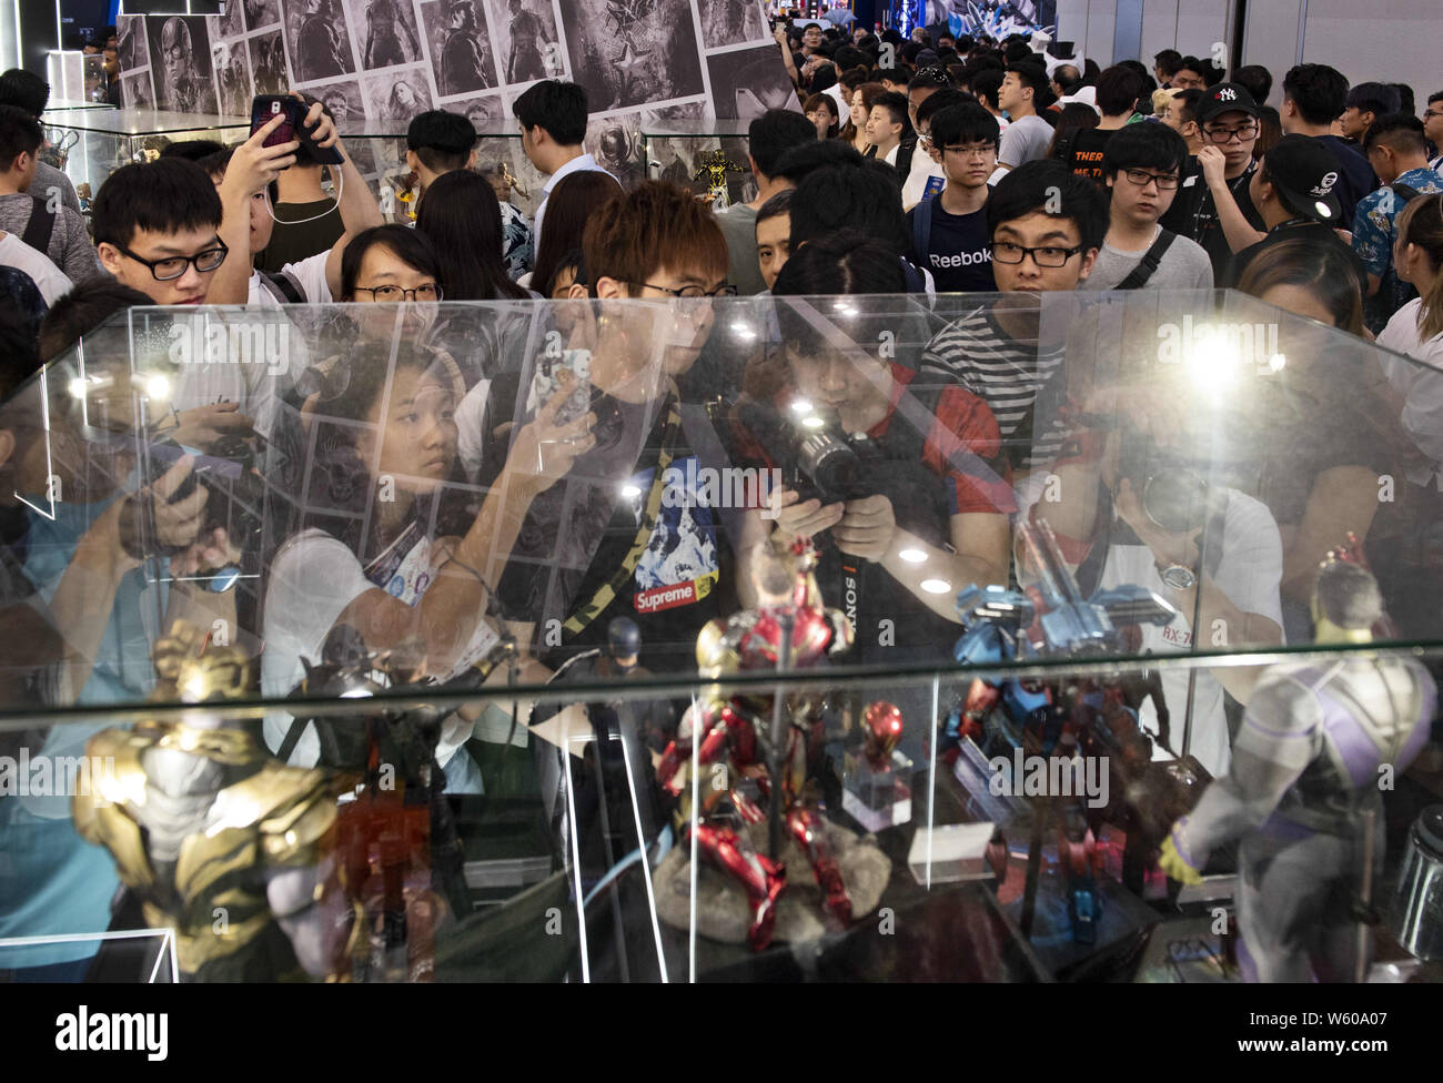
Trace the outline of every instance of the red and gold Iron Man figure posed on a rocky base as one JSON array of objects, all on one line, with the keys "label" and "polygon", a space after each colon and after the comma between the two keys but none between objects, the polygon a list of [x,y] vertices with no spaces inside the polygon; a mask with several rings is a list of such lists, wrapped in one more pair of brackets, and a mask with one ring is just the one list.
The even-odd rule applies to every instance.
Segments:
[{"label": "red and gold Iron Man figure posed on a rocky base", "polygon": [[[810,669],[847,650],[851,623],[840,610],[823,604],[815,565],[817,552],[808,538],[794,541],[785,554],[760,548],[753,570],[759,604],[703,629],[697,637],[700,672],[722,679],[756,671]],[[810,692],[786,694],[781,704],[785,730],[773,748],[769,734],[776,708],[771,689],[723,691],[713,685],[683,717],[677,738],[657,767],[657,779],[681,797],[681,816],[690,821],[690,767],[697,764],[697,846],[746,888],[752,906],[747,939],[755,950],[771,943],[786,868],[775,855],[755,852],[745,831],[722,821],[724,803],[745,823],[759,823],[768,818],[765,803],[779,802],[781,821],[811,862],[824,909],[838,926],[851,920],[851,897],[807,787],[808,754],[821,744],[824,730],[821,699]],[[873,704],[869,714],[890,717],[887,708],[896,711],[889,704]],[[775,754],[776,779],[768,769],[769,754]]]}]

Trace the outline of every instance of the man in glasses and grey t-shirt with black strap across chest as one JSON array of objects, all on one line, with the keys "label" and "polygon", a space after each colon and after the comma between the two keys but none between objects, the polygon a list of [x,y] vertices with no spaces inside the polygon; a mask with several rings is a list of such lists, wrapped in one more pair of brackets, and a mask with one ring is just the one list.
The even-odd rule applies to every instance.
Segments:
[{"label": "man in glasses and grey t-shirt with black strap across chest", "polygon": [[1166,124],[1128,124],[1102,150],[1113,200],[1107,239],[1084,290],[1211,290],[1212,262],[1157,225],[1177,196],[1188,144]]}]

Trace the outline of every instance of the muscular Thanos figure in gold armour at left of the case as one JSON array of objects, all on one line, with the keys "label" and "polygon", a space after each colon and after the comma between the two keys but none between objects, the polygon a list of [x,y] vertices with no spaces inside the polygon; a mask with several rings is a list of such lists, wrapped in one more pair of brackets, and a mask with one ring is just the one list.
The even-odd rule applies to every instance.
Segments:
[{"label": "muscular Thanos figure in gold armour at left of the case", "polygon": [[323,772],[287,767],[227,725],[250,662],[196,646],[177,623],[154,655],[157,699],[195,711],[91,738],[87,756],[114,770],[74,799],[75,828],[114,855],[146,921],[175,930],[182,981],[335,975],[352,926],[349,907],[322,906],[335,795]]}]

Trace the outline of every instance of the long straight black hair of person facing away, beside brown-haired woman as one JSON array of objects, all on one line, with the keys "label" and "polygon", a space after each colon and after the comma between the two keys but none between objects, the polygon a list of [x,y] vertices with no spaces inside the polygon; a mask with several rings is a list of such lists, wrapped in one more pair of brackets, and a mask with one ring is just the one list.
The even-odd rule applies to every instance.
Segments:
[{"label": "long straight black hair of person facing away, beside brown-haired woman", "polygon": [[501,261],[501,202],[479,173],[442,173],[426,189],[416,212],[423,234],[440,262],[440,283],[449,301],[524,300],[530,294],[506,277]]}]

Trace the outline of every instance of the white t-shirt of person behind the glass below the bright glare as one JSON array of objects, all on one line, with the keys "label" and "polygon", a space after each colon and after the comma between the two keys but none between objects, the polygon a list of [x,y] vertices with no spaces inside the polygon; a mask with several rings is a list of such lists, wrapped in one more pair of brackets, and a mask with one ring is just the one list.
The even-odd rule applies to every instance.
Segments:
[{"label": "white t-shirt of person behind the glass below the bright glare", "polygon": [[[1040,472],[1039,472],[1040,474]],[[1023,486],[1023,503],[1030,506],[1040,499],[1046,477],[1033,474]],[[1209,545],[1211,548],[1211,545]],[[1283,603],[1280,584],[1283,580],[1283,539],[1267,506],[1251,496],[1228,490],[1228,503],[1222,516],[1222,558],[1215,571],[1203,571],[1214,584],[1242,613],[1257,613],[1283,626]],[[1111,545],[1098,578],[1098,587],[1123,587],[1137,584],[1157,591],[1177,604],[1177,596],[1162,581],[1153,551],[1146,545]],[[1190,614],[1180,613],[1170,624],[1141,626],[1139,653],[1175,655],[1192,650],[1193,629]],[[1237,642],[1228,637],[1228,629],[1202,629],[1203,650],[1212,650]],[[1208,669],[1198,669],[1192,702],[1192,746],[1189,751],[1214,777],[1221,777],[1231,761],[1228,741],[1228,720],[1222,710],[1222,685]],[[1170,715],[1170,744],[1182,751],[1183,727],[1188,720],[1188,671],[1166,669],[1162,675],[1163,697]],[[1157,731],[1157,711],[1147,699],[1139,711],[1143,728]],[[1159,759],[1167,753],[1156,750]]]}]

